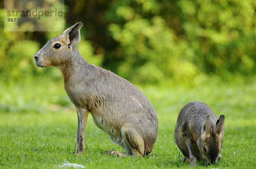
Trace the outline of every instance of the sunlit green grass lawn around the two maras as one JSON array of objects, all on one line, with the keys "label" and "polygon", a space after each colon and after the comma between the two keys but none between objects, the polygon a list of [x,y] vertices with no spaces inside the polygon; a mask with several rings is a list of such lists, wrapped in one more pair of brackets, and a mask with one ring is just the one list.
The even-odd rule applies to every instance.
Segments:
[{"label": "sunlit green grass lawn around the two maras", "polygon": [[[153,104],[159,134],[149,158],[117,158],[102,152],[124,150],[98,129],[89,115],[85,152],[74,155],[77,116],[63,82],[48,78],[0,82],[0,168],[57,168],[65,162],[94,168],[189,168],[182,163],[173,133],[180,109],[189,101],[203,101],[217,115],[224,114],[224,159],[215,166],[198,161],[196,168],[256,167],[256,78],[137,85]],[[154,154],[154,158],[151,158]]]}]

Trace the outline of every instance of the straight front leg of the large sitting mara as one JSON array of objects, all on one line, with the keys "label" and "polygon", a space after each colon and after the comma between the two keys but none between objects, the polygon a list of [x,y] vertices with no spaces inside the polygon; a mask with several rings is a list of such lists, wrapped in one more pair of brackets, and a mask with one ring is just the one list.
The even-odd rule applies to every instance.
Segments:
[{"label": "straight front leg of the large sitting mara", "polygon": [[83,108],[76,107],[78,125],[77,125],[77,138],[76,138],[76,154],[84,152],[84,136],[87,117],[89,111]]}]

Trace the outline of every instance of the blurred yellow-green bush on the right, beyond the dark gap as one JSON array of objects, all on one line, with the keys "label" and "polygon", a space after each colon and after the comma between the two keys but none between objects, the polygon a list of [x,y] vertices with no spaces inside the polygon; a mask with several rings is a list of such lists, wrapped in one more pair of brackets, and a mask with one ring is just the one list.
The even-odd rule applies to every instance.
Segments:
[{"label": "blurred yellow-green bush on the right, beyond the dark gap", "polygon": [[108,29],[117,42],[115,56],[122,57],[117,72],[127,79],[152,83],[256,70],[254,0],[127,0],[111,6]]}]

